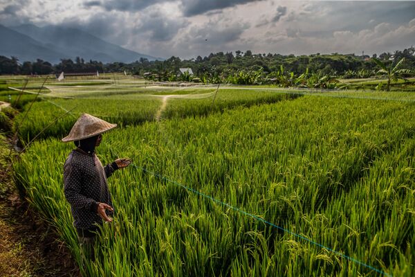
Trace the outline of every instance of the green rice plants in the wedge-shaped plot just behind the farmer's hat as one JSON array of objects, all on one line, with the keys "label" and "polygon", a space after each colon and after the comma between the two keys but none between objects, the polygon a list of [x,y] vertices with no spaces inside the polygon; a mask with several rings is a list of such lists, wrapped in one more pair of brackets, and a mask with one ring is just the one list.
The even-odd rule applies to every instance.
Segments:
[{"label": "green rice plants in the wedge-shaped plot just behind the farmer's hat", "polygon": [[[37,102],[33,105],[23,125],[19,126],[19,136],[23,141],[30,141],[48,123],[74,107],[76,108],[70,116],[66,116],[66,118],[62,118],[51,127],[48,127],[39,136],[39,139],[45,139],[48,136],[65,136],[82,113],[92,114],[122,126],[141,125],[147,121],[158,120],[158,111],[162,109],[163,98],[161,96],[165,96],[166,93],[169,96],[175,97],[187,93],[187,96],[183,96],[183,98],[169,98],[167,107],[160,110],[162,118],[206,116],[212,112],[223,111],[224,109],[233,109],[239,106],[250,107],[252,105],[299,97],[294,94],[275,93],[273,91],[221,89],[212,109],[213,94],[205,93],[205,91],[205,89],[157,90],[151,96],[142,95],[141,93],[113,95],[112,92],[106,94],[105,91],[98,91],[93,94],[95,97],[91,97],[90,92],[89,97],[70,99],[44,98],[45,101]],[[203,93],[200,95],[192,94],[200,92]],[[20,122],[22,117],[23,114],[17,116],[17,122]]]}]

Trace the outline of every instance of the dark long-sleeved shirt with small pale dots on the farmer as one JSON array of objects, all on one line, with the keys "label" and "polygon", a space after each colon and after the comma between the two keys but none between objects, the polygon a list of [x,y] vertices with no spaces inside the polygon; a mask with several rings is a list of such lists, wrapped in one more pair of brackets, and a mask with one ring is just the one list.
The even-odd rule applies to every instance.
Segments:
[{"label": "dark long-sleeved shirt with small pale dots on the farmer", "polygon": [[[105,203],[112,207],[107,177],[117,169],[116,163],[102,166],[95,153],[87,154],[82,150],[73,150],[64,164],[64,193],[71,204],[73,225],[81,236],[93,235],[95,224],[102,224],[98,215],[98,204]],[[107,215],[112,215],[107,210]]]}]

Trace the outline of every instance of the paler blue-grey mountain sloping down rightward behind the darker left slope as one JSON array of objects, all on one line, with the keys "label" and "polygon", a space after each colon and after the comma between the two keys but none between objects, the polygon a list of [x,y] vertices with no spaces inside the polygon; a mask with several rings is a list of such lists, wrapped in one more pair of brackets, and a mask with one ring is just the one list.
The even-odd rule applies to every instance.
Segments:
[{"label": "paler blue-grey mountain sloping down rightward behind the darker left slope", "polygon": [[[33,24],[24,24],[11,27],[10,29],[29,37],[32,39],[31,42],[33,42],[33,44],[37,42],[37,46],[48,49],[48,52],[46,53],[50,53],[50,56],[54,58],[41,58],[42,60],[48,60],[52,63],[57,63],[62,58],[75,59],[75,57],[82,57],[84,60],[126,63],[140,60],[140,57],[147,58],[148,60],[163,60],[122,48],[116,44],[105,42],[99,37],[95,37],[94,35],[77,28],[65,26],[45,26],[39,28]],[[19,39],[12,39],[11,41],[17,42],[18,40]],[[1,44],[3,44],[3,42]],[[8,43],[9,49],[15,48],[13,45],[14,44],[11,42]],[[17,51],[14,51],[14,53],[16,52]],[[5,51],[1,51],[0,55],[4,55],[3,53],[5,53]],[[26,53],[26,51],[21,51],[19,52],[19,55],[15,54],[15,56],[19,57],[19,60],[21,61],[35,60],[39,57],[39,55],[36,55],[37,53],[40,55],[40,52],[37,51],[31,51],[30,55]],[[23,56],[25,58],[22,58]],[[28,59],[27,57],[31,58]]]}]

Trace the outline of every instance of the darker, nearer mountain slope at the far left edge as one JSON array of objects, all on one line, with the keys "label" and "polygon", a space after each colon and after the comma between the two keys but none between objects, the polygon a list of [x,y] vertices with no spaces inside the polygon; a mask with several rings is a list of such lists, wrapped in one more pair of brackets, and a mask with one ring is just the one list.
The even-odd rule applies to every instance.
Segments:
[{"label": "darker, nearer mountain slope at the far left edge", "polygon": [[49,62],[59,62],[63,53],[51,50],[41,42],[18,33],[15,30],[0,25],[0,55],[17,57],[20,62],[42,59]]}]

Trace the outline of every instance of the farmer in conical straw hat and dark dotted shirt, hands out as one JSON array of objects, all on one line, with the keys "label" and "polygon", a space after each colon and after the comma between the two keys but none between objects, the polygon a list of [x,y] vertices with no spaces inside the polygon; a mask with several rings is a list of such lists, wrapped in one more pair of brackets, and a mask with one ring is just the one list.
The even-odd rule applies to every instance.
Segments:
[{"label": "farmer in conical straw hat and dark dotted shirt, hands out", "polygon": [[131,163],[130,159],[116,159],[103,167],[95,154],[95,147],[102,141],[102,133],[116,126],[95,116],[82,114],[68,136],[62,139],[64,142],[73,141],[77,147],[64,164],[64,193],[71,204],[75,220],[73,225],[80,244],[85,247],[86,256],[92,259],[94,256],[91,249],[98,226],[102,225],[102,220],[112,221],[113,207],[107,178],[115,170]]}]

